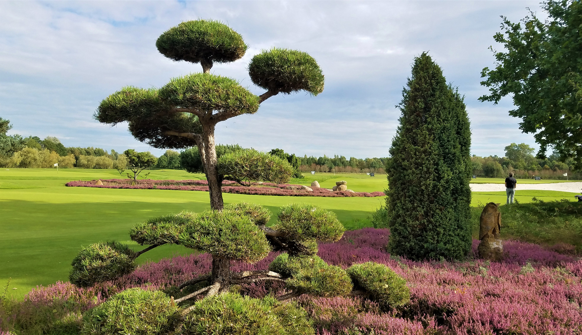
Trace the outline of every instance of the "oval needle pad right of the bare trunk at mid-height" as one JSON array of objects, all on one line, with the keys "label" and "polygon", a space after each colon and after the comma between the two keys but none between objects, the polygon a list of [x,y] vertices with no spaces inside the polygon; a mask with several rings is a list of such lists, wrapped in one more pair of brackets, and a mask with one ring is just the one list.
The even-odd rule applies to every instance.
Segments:
[{"label": "oval needle pad right of the bare trunk at mid-height", "polygon": [[237,150],[218,159],[218,172],[223,178],[250,186],[253,182],[286,183],[293,167],[288,161],[254,149]]}]

